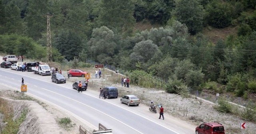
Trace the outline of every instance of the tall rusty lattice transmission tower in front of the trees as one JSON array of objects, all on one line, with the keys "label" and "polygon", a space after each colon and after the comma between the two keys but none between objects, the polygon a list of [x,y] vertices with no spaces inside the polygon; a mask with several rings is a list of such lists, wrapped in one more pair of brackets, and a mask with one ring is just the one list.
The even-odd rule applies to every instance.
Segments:
[{"label": "tall rusty lattice transmission tower in front of the trees", "polygon": [[50,17],[52,15],[47,14],[47,62],[52,61],[52,39],[51,39],[51,27],[50,27]]}]

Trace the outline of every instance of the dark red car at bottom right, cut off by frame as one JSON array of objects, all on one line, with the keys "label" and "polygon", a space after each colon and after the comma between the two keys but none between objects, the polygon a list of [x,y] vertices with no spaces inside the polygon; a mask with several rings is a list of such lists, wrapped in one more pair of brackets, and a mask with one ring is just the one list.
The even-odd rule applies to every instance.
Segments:
[{"label": "dark red car at bottom right, cut off by frame", "polygon": [[225,134],[225,130],[218,122],[208,122],[196,127],[196,134]]}]

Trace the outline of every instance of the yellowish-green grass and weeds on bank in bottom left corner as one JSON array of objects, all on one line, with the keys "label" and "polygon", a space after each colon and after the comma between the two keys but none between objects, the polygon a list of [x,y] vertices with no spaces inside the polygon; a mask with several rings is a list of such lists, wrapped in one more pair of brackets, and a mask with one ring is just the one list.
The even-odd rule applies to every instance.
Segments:
[{"label": "yellowish-green grass and weeds on bank in bottom left corner", "polygon": [[4,115],[1,134],[17,134],[19,131],[20,124],[26,119],[27,109],[21,112],[20,117],[14,119],[14,110],[12,105],[9,104],[5,99],[0,98],[0,112]]}]

